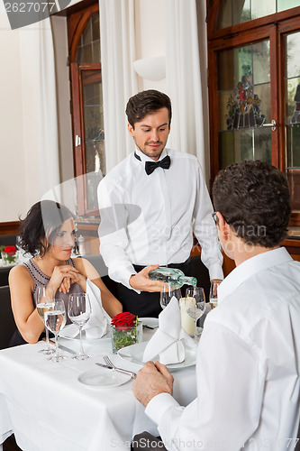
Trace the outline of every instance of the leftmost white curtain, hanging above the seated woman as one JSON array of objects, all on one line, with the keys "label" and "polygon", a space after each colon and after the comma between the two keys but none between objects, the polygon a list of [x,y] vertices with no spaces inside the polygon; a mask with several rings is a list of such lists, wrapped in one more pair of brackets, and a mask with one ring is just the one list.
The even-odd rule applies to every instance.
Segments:
[{"label": "leftmost white curtain, hanging above the seated woman", "polygon": [[50,19],[23,27],[19,34],[23,152],[27,198],[33,203],[59,183],[58,120]]}]

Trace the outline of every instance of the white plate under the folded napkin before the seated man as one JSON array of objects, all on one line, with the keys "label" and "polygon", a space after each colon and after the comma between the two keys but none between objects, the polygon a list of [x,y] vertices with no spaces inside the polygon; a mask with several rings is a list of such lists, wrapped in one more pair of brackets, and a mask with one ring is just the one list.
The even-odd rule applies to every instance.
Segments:
[{"label": "white plate under the folded napkin before the seated man", "polygon": [[[147,344],[148,344],[147,341],[143,341],[141,343],[137,343],[136,345],[123,347],[118,351],[118,354],[127,362],[143,366],[144,362],[142,362],[142,355],[144,354],[145,347]],[[181,362],[180,364],[168,364],[167,365],[168,369],[177,370],[179,368],[186,368],[187,366],[195,365],[196,349],[197,349],[196,347],[193,349],[186,347],[186,358],[184,362]],[[153,357],[152,362],[156,362],[157,360],[159,360],[159,355]]]}]

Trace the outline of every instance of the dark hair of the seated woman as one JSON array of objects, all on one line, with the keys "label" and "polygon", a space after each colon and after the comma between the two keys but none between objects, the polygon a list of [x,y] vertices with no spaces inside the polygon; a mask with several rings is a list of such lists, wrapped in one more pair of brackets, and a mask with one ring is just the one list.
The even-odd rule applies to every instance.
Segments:
[{"label": "dark hair of the seated woman", "polygon": [[71,217],[70,210],[58,202],[37,202],[21,222],[20,246],[26,253],[43,257],[54,243],[61,225]]}]

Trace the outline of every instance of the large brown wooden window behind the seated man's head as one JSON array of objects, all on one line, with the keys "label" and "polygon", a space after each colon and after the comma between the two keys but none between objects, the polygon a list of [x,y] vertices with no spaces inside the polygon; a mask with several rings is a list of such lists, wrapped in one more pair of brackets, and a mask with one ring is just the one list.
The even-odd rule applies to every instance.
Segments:
[{"label": "large brown wooden window behind the seated man's head", "polygon": [[286,172],[300,235],[300,0],[207,1],[211,172],[260,159]]}]

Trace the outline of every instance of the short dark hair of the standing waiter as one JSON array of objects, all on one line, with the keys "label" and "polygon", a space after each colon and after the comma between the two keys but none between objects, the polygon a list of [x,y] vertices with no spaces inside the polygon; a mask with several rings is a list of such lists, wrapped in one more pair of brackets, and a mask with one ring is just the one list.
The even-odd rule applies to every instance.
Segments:
[{"label": "short dark hair of the standing waiter", "polygon": [[126,115],[128,122],[134,130],[136,122],[141,122],[146,115],[151,115],[161,108],[168,108],[168,124],[171,124],[172,106],[167,94],[155,89],[141,91],[132,96],[127,102]]}]

